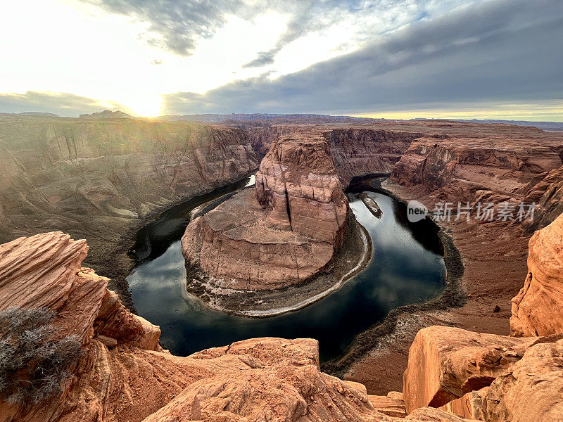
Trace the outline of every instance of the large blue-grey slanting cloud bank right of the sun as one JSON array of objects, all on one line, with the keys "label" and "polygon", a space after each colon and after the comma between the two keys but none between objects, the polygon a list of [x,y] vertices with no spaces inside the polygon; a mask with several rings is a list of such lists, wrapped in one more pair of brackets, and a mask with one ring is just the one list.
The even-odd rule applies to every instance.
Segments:
[{"label": "large blue-grey slanting cloud bank right of the sun", "polygon": [[165,96],[170,114],[362,113],[431,103],[563,99],[563,2],[488,0],[270,81]]}]

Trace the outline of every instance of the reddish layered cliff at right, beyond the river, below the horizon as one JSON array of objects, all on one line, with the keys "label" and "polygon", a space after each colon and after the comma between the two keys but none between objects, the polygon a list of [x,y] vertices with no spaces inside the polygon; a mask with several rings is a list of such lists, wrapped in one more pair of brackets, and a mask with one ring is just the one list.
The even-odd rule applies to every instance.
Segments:
[{"label": "reddish layered cliff at right, beyond the river, below the horizon", "polygon": [[403,186],[424,186],[436,198],[451,202],[473,201],[483,191],[510,198],[537,174],[562,165],[558,134],[531,127],[510,127],[508,133],[495,124],[450,123],[457,131],[437,131],[413,141],[391,179]]}]

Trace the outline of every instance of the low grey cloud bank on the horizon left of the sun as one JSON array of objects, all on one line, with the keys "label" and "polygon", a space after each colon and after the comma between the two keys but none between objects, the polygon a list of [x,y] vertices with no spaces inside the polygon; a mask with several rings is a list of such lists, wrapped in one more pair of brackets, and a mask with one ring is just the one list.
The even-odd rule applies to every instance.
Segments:
[{"label": "low grey cloud bank on the horizon left of the sun", "polygon": [[[108,106],[127,110],[119,103],[109,103]],[[81,113],[94,113],[106,108],[93,98],[67,93],[27,91],[25,94],[0,94],[0,113],[34,111],[77,117]]]}]

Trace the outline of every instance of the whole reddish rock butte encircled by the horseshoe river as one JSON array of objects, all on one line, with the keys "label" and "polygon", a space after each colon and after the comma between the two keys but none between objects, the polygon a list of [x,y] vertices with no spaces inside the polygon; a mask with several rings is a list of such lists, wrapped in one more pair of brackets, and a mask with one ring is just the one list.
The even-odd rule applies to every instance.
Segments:
[{"label": "whole reddish rock butte encircled by the horseshoe river", "polygon": [[303,283],[338,252],[348,198],[324,139],[279,139],[248,188],[194,219],[186,261],[225,287],[262,290]]}]

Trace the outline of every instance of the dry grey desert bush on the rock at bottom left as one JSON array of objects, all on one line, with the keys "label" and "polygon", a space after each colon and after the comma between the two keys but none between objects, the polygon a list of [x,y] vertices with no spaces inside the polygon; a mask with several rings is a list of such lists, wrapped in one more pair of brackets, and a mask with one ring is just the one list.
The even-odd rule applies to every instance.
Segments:
[{"label": "dry grey desert bush on the rock at bottom left", "polygon": [[75,335],[53,340],[55,313],[11,307],[0,312],[0,395],[11,404],[37,404],[61,393],[80,355]]}]

